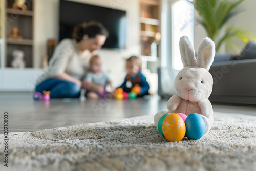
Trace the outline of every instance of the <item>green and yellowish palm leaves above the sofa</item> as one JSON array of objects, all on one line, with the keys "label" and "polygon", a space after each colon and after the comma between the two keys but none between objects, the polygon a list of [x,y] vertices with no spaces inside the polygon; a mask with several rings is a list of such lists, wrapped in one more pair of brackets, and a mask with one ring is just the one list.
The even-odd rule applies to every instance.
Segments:
[{"label": "green and yellowish palm leaves above the sofa", "polygon": [[[200,19],[198,19],[199,24],[205,28],[208,36],[215,42],[216,51],[220,49],[224,42],[235,48],[236,46],[230,41],[233,37],[237,37],[244,42],[249,38],[254,39],[253,33],[235,27],[227,27],[224,35],[222,37],[219,36],[226,23],[241,12],[237,7],[243,1],[244,0],[194,0],[191,2],[200,15]],[[219,39],[219,41],[217,41],[217,39]]]}]

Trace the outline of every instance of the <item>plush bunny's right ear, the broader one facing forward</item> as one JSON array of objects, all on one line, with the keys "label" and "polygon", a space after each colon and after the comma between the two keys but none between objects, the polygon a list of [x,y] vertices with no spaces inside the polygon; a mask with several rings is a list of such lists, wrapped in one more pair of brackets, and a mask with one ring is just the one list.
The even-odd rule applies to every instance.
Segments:
[{"label": "plush bunny's right ear, the broader one facing forward", "polygon": [[197,66],[203,67],[209,71],[212,62],[214,62],[215,44],[209,37],[202,40],[197,49]]}]

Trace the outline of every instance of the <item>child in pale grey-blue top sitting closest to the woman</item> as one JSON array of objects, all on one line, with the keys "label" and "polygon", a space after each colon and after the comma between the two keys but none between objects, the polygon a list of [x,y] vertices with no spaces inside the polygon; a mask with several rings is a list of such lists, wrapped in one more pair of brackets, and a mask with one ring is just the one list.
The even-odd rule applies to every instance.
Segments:
[{"label": "child in pale grey-blue top sitting closest to the woman", "polygon": [[[97,86],[102,86],[102,91],[100,93],[94,91],[87,91],[86,97],[88,98],[104,98],[108,94],[108,92],[105,91],[106,85],[110,84],[110,86],[112,87],[108,75],[105,72],[101,71],[101,59],[98,55],[94,55],[90,58],[89,71],[87,72],[84,81],[87,84],[94,83],[97,84]],[[94,89],[92,88],[92,90]]]}]

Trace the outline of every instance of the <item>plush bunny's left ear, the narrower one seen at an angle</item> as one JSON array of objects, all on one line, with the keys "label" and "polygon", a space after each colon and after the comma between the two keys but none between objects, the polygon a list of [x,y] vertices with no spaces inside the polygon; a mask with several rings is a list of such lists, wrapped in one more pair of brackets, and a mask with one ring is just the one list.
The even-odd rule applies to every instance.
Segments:
[{"label": "plush bunny's left ear, the narrower one seen at an angle", "polygon": [[197,60],[195,57],[195,50],[188,40],[187,36],[180,38],[180,55],[183,62],[183,66],[197,66]]}]

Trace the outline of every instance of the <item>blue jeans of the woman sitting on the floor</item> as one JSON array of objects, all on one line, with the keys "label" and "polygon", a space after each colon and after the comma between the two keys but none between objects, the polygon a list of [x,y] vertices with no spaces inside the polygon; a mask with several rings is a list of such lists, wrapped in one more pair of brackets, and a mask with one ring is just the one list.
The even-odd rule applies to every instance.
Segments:
[{"label": "blue jeans of the woman sitting on the floor", "polygon": [[80,96],[80,87],[77,84],[60,79],[47,79],[35,88],[36,92],[50,91],[51,98],[78,98]]}]

